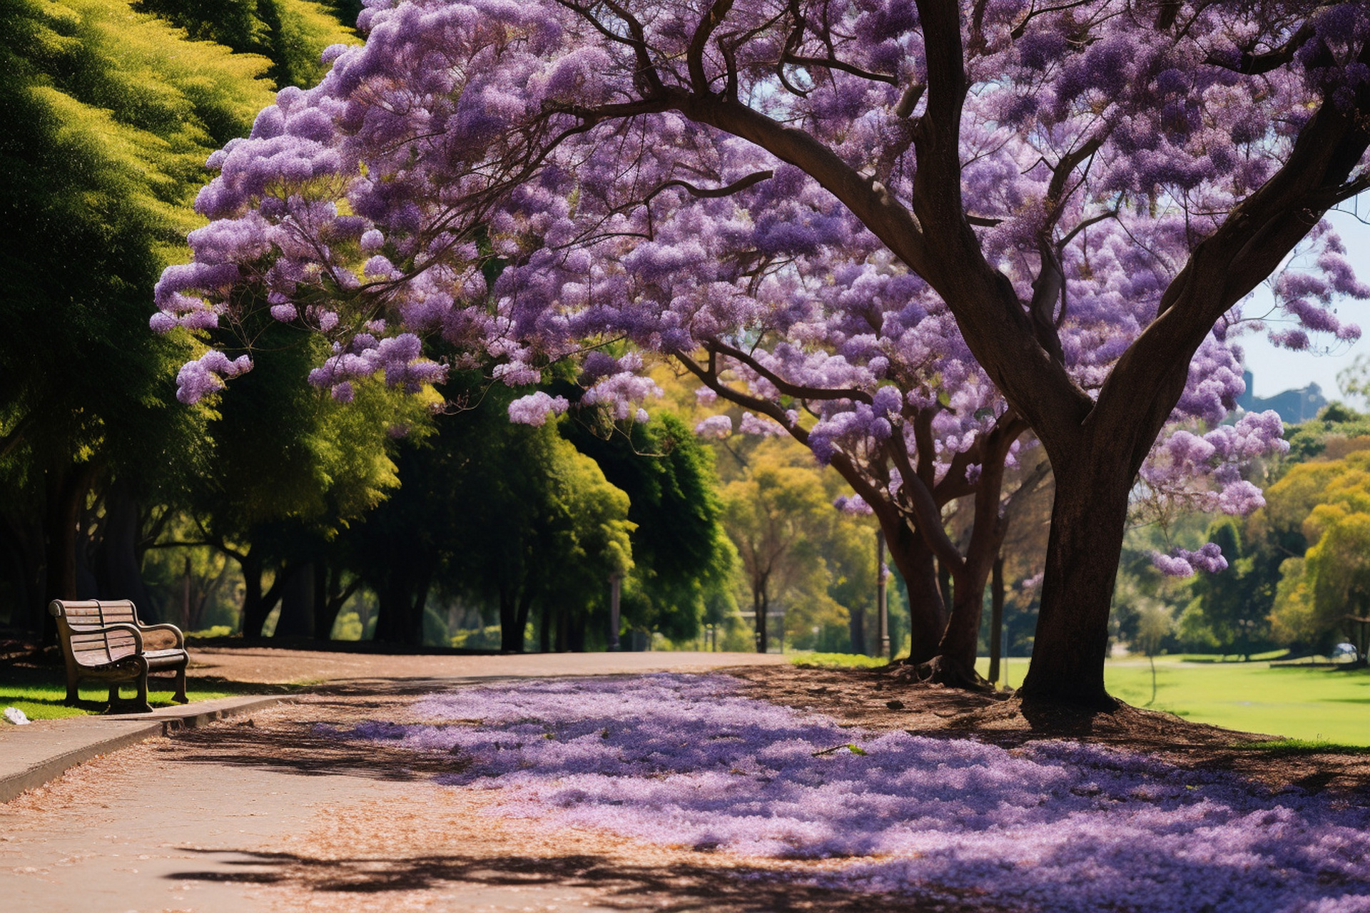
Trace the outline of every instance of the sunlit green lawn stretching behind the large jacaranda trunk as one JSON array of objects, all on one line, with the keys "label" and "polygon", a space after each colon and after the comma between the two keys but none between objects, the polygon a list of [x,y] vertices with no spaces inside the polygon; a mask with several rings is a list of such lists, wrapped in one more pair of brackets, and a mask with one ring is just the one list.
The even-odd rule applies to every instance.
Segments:
[{"label": "sunlit green lawn stretching behind the large jacaranda trunk", "polygon": [[[1167,710],[1195,723],[1307,742],[1370,745],[1370,669],[1270,668],[1267,660],[1215,663],[1215,657],[1156,657],[1156,699],[1144,657],[1110,660],[1110,694],[1134,706]],[[988,660],[980,661],[984,675]],[[1008,660],[1008,683],[1022,684],[1028,660]]]}]

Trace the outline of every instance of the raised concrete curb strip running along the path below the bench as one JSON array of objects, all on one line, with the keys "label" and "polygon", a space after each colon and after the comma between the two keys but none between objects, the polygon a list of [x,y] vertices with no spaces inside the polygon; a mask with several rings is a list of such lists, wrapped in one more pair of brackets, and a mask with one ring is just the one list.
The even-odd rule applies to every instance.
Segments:
[{"label": "raised concrete curb strip running along the path below the bench", "polygon": [[274,706],[281,697],[197,701],[152,713],[121,713],[66,720],[38,720],[0,730],[0,802],[55,780],[77,764],[159,735]]}]

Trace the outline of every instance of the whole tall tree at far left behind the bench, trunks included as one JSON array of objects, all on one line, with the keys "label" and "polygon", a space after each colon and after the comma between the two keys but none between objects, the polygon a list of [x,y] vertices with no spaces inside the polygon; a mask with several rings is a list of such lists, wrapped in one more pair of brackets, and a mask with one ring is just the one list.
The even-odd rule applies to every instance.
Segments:
[{"label": "whole tall tree at far left behind the bench, trunks included", "polygon": [[270,94],[264,60],[112,0],[15,0],[0,31],[0,308],[26,327],[0,346],[0,471],[14,620],[36,627],[55,595],[141,598],[138,502],[192,482],[204,422],[174,402],[190,348],[148,339],[148,294],[184,256],[204,157]]}]

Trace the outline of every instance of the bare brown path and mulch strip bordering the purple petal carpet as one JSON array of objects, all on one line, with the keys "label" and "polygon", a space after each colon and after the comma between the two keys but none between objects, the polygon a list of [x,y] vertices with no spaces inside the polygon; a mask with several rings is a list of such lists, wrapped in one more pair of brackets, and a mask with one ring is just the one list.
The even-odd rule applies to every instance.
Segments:
[{"label": "bare brown path and mulch strip bordering the purple petal carpet", "polygon": [[[196,910],[981,910],[796,884],[793,869],[717,853],[549,831],[484,814],[490,794],[443,787],[458,758],[327,738],[316,727],[410,719],[412,697],[473,680],[733,669],[752,697],[844,724],[1006,745],[1069,735],[1306,788],[1365,790],[1366,756],[1234,749],[1245,736],[1133,710],[1029,719],[1012,704],[877,671],[797,669],[780,657],[622,653],[453,657],[215,647],[207,680],[319,683],[292,704],[97,758],[0,805],[3,909]],[[1251,736],[1256,738],[1256,736]],[[840,861],[838,861],[840,862]],[[834,862],[837,864],[837,862]]]}]

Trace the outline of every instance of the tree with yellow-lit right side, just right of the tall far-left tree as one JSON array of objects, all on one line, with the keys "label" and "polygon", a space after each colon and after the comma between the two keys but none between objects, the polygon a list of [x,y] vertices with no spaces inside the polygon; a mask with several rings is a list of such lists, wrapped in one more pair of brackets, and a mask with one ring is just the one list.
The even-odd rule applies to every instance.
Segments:
[{"label": "tree with yellow-lit right side, just right of the tall far-left tree", "polygon": [[[321,394],[300,382],[311,344],[288,327],[269,327],[259,348],[252,375],[216,404],[207,428],[212,461],[189,498],[201,541],[241,567],[247,636],[262,635],[295,575],[327,575],[329,541],[399,486],[396,434],[427,434],[432,404],[379,381],[355,385],[347,404]],[[336,571],[332,587],[322,583],[311,594],[322,605],[304,609],[318,617],[297,623],[303,632],[332,630],[342,587]]]}]

